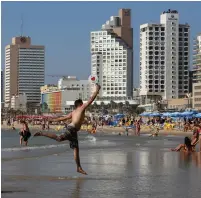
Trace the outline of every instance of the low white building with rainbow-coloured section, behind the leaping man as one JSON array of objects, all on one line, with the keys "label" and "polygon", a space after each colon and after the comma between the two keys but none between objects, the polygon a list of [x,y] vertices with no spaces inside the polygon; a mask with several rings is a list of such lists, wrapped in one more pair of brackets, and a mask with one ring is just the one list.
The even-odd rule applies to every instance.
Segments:
[{"label": "low white building with rainbow-coloured section, behind the leaping man", "polygon": [[[45,85],[41,87],[41,104],[43,112],[62,113],[74,107],[74,101],[87,101],[91,96],[88,80],[78,80],[76,76],[59,79],[58,87]],[[46,107],[45,107],[46,106]]]}]

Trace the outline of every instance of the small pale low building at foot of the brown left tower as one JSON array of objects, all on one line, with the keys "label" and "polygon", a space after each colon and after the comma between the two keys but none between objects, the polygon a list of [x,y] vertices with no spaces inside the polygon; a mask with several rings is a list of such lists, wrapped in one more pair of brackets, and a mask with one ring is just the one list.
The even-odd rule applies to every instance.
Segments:
[{"label": "small pale low building at foot of the brown left tower", "polygon": [[27,110],[27,96],[25,93],[12,96],[11,108],[14,110],[21,110],[26,112]]}]

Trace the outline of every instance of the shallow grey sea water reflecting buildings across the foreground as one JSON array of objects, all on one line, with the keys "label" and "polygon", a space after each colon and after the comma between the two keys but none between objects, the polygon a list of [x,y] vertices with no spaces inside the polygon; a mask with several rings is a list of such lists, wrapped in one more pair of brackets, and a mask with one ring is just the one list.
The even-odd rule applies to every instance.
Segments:
[{"label": "shallow grey sea water reflecting buildings across the foreground", "polygon": [[201,156],[169,149],[182,137],[119,136],[79,133],[80,160],[87,176],[76,172],[73,150],[34,137],[19,146],[19,135],[2,131],[2,197],[198,198]]}]

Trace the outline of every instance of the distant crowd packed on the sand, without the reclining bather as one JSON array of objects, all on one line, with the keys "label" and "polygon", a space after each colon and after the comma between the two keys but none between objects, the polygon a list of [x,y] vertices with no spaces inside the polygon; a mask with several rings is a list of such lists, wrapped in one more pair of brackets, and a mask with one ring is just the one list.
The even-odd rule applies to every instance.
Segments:
[{"label": "distant crowd packed on the sand, without the reclining bather", "polygon": [[[142,115],[142,114],[141,114]],[[20,120],[26,121],[29,126],[39,128],[41,130],[49,130],[55,128],[58,130],[61,126],[66,126],[68,122],[51,122],[48,116],[16,116],[2,119],[2,128],[18,128]],[[89,116],[85,118],[84,126],[94,127],[124,127],[132,128],[139,135],[141,130],[149,130],[150,132],[166,131],[192,131],[195,126],[201,126],[201,118],[197,117],[169,117],[169,116],[133,116],[124,114],[105,115],[105,116]],[[59,127],[58,127],[59,126]]]}]

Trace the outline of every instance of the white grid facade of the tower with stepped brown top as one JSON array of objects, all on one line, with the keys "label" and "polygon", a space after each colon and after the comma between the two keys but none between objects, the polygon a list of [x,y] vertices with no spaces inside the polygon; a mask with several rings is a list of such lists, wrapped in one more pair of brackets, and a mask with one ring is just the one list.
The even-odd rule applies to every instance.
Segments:
[{"label": "white grid facade of the tower with stepped brown top", "polygon": [[[91,32],[91,73],[102,87],[100,97],[127,97],[132,51],[108,31]],[[130,87],[129,87],[130,89]]]}]

